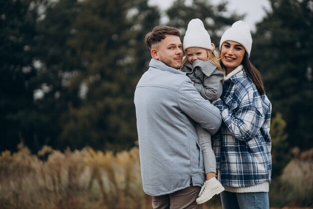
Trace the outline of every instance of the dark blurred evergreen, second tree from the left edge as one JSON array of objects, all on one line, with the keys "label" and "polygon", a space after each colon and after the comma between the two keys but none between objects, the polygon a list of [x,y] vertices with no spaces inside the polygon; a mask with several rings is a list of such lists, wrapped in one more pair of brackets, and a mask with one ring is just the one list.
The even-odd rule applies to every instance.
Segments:
[{"label": "dark blurred evergreen, second tree from the left edge", "polygon": [[79,86],[75,75],[81,69],[74,50],[67,43],[74,36],[73,21],[80,8],[76,0],[47,1],[44,17],[38,21],[39,38],[36,57],[40,66],[38,75],[33,79],[42,97],[35,100],[36,113],[41,118],[37,134],[40,146],[47,144],[64,149],[66,141],[59,144],[61,122],[69,107],[80,105]]}]

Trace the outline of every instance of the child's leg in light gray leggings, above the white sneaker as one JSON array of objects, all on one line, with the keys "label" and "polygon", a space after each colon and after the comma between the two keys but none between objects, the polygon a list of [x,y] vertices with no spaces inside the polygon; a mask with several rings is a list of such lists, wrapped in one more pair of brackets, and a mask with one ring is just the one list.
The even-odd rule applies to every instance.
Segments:
[{"label": "child's leg in light gray leggings, above the white sneaker", "polygon": [[216,160],[211,144],[211,135],[199,124],[195,125],[202,150],[206,180],[216,175]]}]

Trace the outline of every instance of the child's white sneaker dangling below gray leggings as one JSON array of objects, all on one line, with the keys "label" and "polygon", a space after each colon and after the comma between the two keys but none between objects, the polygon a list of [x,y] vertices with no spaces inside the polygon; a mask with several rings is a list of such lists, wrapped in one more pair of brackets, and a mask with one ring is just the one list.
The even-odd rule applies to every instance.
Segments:
[{"label": "child's white sneaker dangling below gray leggings", "polygon": [[203,186],[201,187],[199,197],[196,198],[197,204],[202,204],[212,198],[215,194],[219,194],[224,190],[224,187],[220,184],[220,182],[215,178],[211,178],[209,180],[204,181]]}]

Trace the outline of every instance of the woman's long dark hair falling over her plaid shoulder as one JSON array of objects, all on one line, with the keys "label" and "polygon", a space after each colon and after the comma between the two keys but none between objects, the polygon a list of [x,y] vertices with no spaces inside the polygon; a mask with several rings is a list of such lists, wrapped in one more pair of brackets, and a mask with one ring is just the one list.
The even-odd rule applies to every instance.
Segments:
[{"label": "woman's long dark hair falling over her plaid shoulder", "polygon": [[245,52],[242,60],[243,69],[247,76],[252,80],[260,95],[265,94],[261,73],[252,65],[249,60],[248,54]]}]

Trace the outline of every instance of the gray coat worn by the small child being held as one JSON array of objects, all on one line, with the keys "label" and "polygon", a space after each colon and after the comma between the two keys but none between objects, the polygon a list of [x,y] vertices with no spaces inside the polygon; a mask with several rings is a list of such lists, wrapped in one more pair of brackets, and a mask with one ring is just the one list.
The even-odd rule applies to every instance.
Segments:
[{"label": "gray coat worn by the small child being held", "polygon": [[186,62],[182,71],[193,81],[193,85],[204,99],[217,100],[222,93],[224,73],[209,61]]}]

